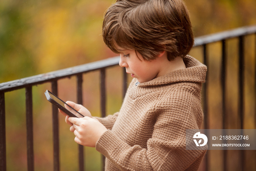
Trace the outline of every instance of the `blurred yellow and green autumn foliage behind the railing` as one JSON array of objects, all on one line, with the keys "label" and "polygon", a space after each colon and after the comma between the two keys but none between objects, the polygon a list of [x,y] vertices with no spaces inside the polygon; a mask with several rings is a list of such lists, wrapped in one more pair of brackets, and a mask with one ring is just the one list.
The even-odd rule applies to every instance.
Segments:
[{"label": "blurred yellow and green autumn foliage behind the railing", "polygon": [[[103,14],[113,0],[1,0],[0,1],[0,83],[47,73],[67,67],[81,65],[109,57],[117,56],[103,43],[101,31]],[[195,37],[256,24],[255,0],[185,0],[191,14]],[[237,40],[234,40],[236,43]],[[246,39],[245,65],[245,128],[255,129],[255,36]],[[236,116],[237,82],[233,69],[237,66],[237,54],[233,54],[236,45],[228,45],[231,64],[227,67],[227,103],[229,115]],[[221,60],[219,43],[209,48],[208,74],[211,75],[208,95],[211,129],[221,129],[221,97],[219,66]],[[202,61],[202,52],[195,48],[191,55]],[[120,109],[121,68],[109,69],[107,82],[107,114]],[[118,77],[117,77],[118,76]],[[93,116],[99,116],[99,72],[86,74],[83,83],[83,105]],[[129,78],[130,79],[130,78]],[[63,100],[76,101],[75,78],[59,81],[59,97]],[[50,83],[33,87],[33,121],[35,170],[53,169],[52,115],[51,105],[46,101],[44,92],[50,90]],[[27,170],[26,159],[26,120],[25,90],[5,93],[7,170]],[[230,129],[238,129],[238,121],[229,120]],[[24,147],[24,148],[22,148]],[[60,166],[61,170],[78,170],[77,144],[74,134],[69,132],[64,117],[60,116]],[[86,170],[100,170],[101,155],[94,148],[84,148]],[[219,151],[211,153],[211,170],[219,170],[222,165]],[[230,170],[238,170],[239,158],[230,153]],[[248,152],[251,163],[256,162],[256,152]],[[248,164],[248,170],[255,170],[255,165]]]}]

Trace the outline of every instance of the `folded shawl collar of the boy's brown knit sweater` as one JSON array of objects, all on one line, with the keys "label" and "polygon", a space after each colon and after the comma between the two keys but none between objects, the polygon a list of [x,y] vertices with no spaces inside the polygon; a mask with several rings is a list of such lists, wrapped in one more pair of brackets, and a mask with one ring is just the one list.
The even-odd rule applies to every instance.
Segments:
[{"label": "folded shawl collar of the boy's brown knit sweater", "polygon": [[187,55],[183,58],[186,69],[176,70],[169,74],[140,83],[139,87],[164,85],[176,82],[205,82],[207,67],[195,58]]}]

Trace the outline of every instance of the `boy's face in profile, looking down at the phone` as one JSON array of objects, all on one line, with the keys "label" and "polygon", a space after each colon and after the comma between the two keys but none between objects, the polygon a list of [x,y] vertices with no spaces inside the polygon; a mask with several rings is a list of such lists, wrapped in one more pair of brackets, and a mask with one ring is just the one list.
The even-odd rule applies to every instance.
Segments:
[{"label": "boy's face in profile, looking down at the phone", "polygon": [[142,56],[136,55],[135,50],[124,50],[120,48],[119,65],[126,68],[131,77],[137,78],[140,83],[150,81],[159,74],[159,64],[155,60],[145,61]]}]

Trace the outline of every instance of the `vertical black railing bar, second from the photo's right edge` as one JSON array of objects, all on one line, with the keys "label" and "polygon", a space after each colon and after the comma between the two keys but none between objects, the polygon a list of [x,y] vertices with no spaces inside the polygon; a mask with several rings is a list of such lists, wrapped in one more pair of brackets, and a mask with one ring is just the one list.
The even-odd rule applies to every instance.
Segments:
[{"label": "vertical black railing bar, second from the photo's right edge", "polygon": [[[244,128],[244,36],[239,36],[239,71],[238,71],[238,116],[240,129]],[[244,170],[245,153],[240,150],[241,168]]]}]

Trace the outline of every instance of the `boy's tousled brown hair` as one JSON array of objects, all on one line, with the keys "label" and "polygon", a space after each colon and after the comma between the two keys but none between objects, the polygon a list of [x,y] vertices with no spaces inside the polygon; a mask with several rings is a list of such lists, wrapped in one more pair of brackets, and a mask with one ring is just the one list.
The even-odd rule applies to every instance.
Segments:
[{"label": "boy's tousled brown hair", "polygon": [[117,45],[149,61],[164,50],[169,61],[184,57],[194,43],[182,0],[117,0],[105,13],[102,36],[114,53]]}]

